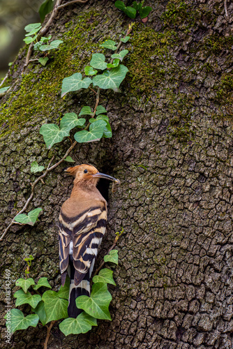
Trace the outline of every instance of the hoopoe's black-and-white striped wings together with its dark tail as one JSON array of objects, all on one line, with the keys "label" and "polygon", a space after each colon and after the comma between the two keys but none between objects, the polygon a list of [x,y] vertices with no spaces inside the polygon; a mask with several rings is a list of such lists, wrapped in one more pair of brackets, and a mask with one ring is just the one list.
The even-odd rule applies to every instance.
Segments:
[{"label": "hoopoe's black-and-white striped wings together with its dark tail", "polygon": [[61,283],[70,276],[68,315],[76,318],[82,313],[77,309],[75,299],[90,295],[90,278],[107,221],[107,209],[102,202],[100,207],[90,207],[79,216],[68,217],[61,210],[59,217],[59,258]]}]

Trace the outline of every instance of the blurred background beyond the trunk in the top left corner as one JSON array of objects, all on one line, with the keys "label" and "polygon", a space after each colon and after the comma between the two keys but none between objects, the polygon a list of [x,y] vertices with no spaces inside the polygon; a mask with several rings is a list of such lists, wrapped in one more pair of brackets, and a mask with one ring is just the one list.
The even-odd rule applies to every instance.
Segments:
[{"label": "blurred background beyond the trunk in the top left corner", "polygon": [[0,0],[0,79],[8,71],[20,47],[24,46],[24,27],[40,22],[38,9],[44,0]]}]

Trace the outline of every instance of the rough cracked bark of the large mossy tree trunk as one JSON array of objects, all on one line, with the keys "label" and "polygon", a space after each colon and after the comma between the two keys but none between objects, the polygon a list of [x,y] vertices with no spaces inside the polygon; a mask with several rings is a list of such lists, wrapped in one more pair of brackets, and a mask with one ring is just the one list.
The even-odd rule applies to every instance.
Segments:
[{"label": "rough cracked bark of the large mossy tree trunk", "polygon": [[[81,144],[71,154],[77,163],[93,163],[122,180],[109,195],[98,258],[100,263],[123,227],[117,287],[110,287],[113,320],[66,338],[55,325],[50,349],[233,346],[233,4],[228,1],[228,18],[222,0],[146,5],[153,8],[149,22],[136,20],[126,47],[130,73],[122,94],[100,95],[112,140]],[[59,159],[68,149],[67,140],[47,151],[40,125],[94,104],[84,90],[61,99],[63,77],[83,71],[98,43],[119,39],[129,22],[113,1],[64,8],[49,33],[63,38],[63,48],[50,64],[31,64],[20,76],[26,49],[20,52],[10,84],[19,80],[2,100],[2,226],[29,196],[31,161],[47,164],[52,154]],[[65,166],[36,188],[29,209],[43,207],[40,222],[34,228],[14,225],[1,242],[1,273],[10,269],[13,280],[23,275],[22,259],[31,254],[31,276],[47,276],[54,290],[59,288],[57,222],[72,188]],[[4,327],[1,336],[1,348],[8,348]],[[45,336],[45,328],[30,327],[13,336],[12,348],[41,348]]]}]

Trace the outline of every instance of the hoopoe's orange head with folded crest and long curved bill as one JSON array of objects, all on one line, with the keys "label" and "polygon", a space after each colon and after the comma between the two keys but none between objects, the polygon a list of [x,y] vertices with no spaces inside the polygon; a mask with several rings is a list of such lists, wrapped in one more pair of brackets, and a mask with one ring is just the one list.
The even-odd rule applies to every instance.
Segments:
[{"label": "hoopoe's orange head with folded crest and long curved bill", "polygon": [[75,177],[74,184],[83,183],[86,185],[95,185],[98,182],[99,178],[109,179],[110,181],[114,181],[116,183],[119,183],[119,179],[116,179],[114,177],[109,176],[105,173],[100,173],[94,166],[82,164],[74,166],[73,168],[67,168],[65,170],[68,174],[71,174],[73,177]]}]

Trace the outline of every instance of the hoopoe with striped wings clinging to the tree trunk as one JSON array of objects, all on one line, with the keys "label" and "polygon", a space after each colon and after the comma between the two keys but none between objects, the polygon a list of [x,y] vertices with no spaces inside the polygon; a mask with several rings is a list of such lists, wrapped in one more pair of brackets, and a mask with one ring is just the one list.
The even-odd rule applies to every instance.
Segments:
[{"label": "hoopoe with striped wings clinging to the tree trunk", "polygon": [[59,215],[59,267],[61,285],[70,277],[68,316],[77,318],[75,299],[90,296],[90,278],[98,253],[98,246],[105,235],[107,202],[96,188],[100,178],[119,184],[119,179],[100,173],[88,164],[67,168],[74,179],[70,198],[61,206]]}]

